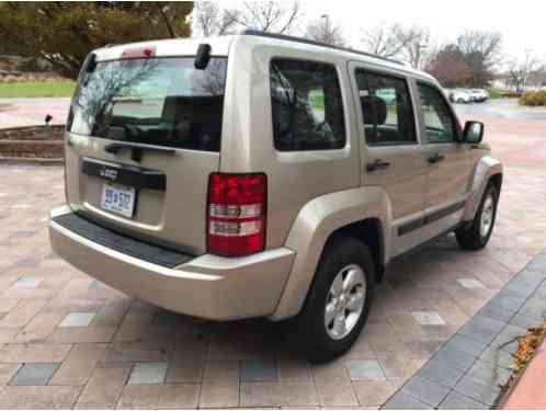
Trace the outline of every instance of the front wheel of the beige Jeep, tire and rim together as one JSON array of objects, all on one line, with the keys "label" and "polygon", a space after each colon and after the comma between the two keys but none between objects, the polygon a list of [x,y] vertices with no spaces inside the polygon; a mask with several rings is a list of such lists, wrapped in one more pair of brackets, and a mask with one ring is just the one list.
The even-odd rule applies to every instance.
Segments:
[{"label": "front wheel of the beige Jeep, tire and rim together", "polygon": [[455,231],[455,237],[460,248],[480,250],[486,247],[493,231],[498,201],[497,187],[489,183],[471,225]]}]

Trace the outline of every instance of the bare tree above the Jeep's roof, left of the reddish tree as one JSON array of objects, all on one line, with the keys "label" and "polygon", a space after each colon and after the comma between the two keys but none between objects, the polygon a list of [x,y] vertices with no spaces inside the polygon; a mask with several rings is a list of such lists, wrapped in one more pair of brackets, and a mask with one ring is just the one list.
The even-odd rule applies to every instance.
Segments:
[{"label": "bare tree above the Jeep's roof, left of the reddish tree", "polygon": [[412,67],[422,67],[430,43],[428,28],[417,25],[378,25],[364,32],[364,47],[367,52],[387,58],[399,58]]}]

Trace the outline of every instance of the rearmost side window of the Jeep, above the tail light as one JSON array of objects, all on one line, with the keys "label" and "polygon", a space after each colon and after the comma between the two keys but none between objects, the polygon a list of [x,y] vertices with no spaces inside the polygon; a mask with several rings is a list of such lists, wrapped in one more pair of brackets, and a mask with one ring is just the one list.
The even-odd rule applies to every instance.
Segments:
[{"label": "rearmost side window of the Jeep, above the tail light", "polygon": [[332,150],[345,146],[341,88],[333,66],[274,59],[270,83],[277,150]]}]

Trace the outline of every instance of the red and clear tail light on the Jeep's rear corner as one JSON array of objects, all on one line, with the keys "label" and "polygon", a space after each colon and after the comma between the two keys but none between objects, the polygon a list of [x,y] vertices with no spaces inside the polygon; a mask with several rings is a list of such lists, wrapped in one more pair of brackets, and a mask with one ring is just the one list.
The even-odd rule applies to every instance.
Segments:
[{"label": "red and clear tail light on the Jeep's rear corner", "polygon": [[212,173],[208,179],[207,248],[242,256],[265,246],[265,174]]}]

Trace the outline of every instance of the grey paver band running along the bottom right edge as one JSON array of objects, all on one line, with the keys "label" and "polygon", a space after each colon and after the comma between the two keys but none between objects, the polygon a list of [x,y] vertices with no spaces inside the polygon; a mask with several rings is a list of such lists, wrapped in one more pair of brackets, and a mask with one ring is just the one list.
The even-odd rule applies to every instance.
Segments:
[{"label": "grey paver band running along the bottom right edge", "polygon": [[383,409],[490,409],[511,375],[515,339],[546,317],[546,252],[447,340]]}]

